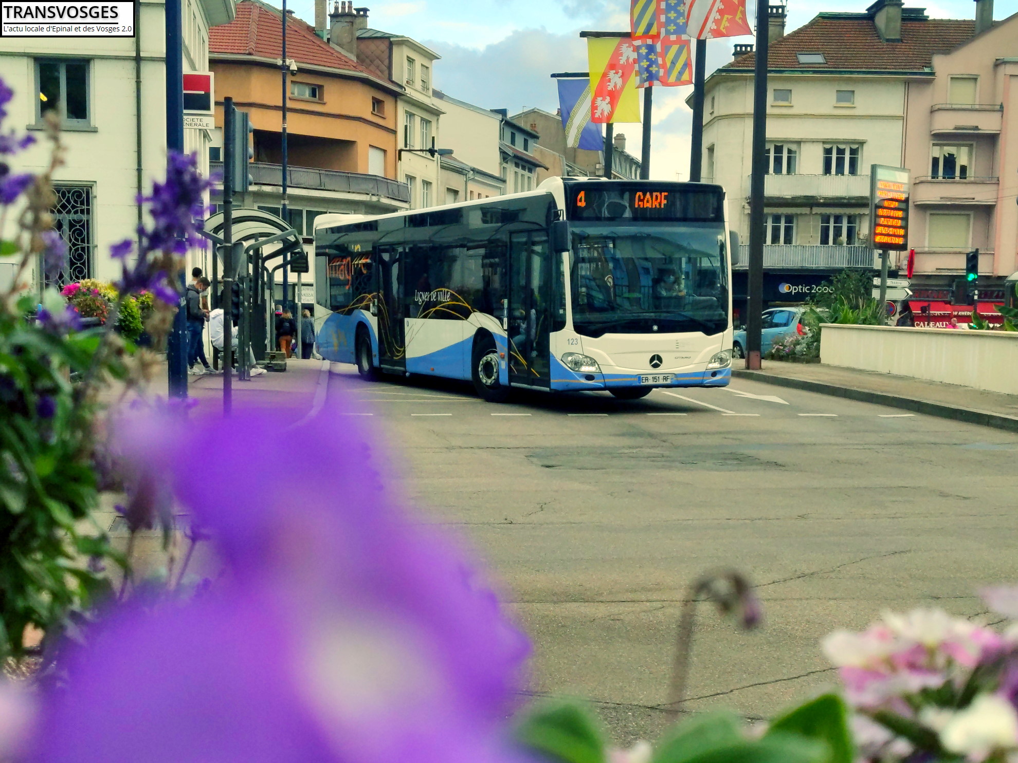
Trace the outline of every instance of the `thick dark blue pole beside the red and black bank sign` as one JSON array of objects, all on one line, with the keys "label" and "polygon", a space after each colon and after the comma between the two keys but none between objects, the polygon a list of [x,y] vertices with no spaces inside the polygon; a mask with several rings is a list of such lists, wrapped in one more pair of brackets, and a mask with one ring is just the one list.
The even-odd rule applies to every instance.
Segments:
[{"label": "thick dark blue pole beside the red and black bank sign", "polygon": [[[184,150],[184,58],[180,0],[166,0],[166,150]],[[166,365],[171,398],[187,397],[186,269],[180,271],[180,302],[166,341]]]}]

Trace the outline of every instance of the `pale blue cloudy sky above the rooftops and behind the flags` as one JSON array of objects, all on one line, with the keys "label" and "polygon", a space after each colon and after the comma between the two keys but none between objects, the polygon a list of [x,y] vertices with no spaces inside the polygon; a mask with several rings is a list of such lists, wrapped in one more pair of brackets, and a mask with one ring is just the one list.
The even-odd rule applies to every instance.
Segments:
[{"label": "pale blue cloudy sky above the rooftops and behind the flags", "polygon": [[[333,0],[329,0],[330,5]],[[788,0],[786,32],[819,11],[861,12],[872,0]],[[278,0],[277,0],[278,2]],[[529,107],[555,113],[558,96],[553,71],[586,69],[586,45],[579,32],[629,28],[628,0],[356,0],[370,8],[369,26],[411,37],[442,56],[434,82],[450,96],[486,109],[515,114]],[[748,0],[748,16],[755,0]],[[972,0],[909,2],[937,18],[971,18]],[[1016,0],[997,0],[995,17],[1018,10]],[[301,18],[314,23],[314,0],[288,0]],[[731,60],[735,43],[750,37],[708,43],[708,73]],[[651,176],[684,179],[689,169],[692,114],[685,104],[691,86],[656,87],[652,127]],[[641,126],[617,124],[627,149],[639,155]]]}]

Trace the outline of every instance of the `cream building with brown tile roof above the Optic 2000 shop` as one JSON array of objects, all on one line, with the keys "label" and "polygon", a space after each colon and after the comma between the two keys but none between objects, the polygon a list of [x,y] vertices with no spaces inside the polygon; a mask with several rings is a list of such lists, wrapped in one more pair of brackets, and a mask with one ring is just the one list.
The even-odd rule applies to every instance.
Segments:
[{"label": "cream building with brown tile roof above the Optic 2000 shop", "polygon": [[[929,176],[931,96],[919,94],[936,91],[937,65],[972,40],[975,20],[929,18],[901,0],[878,0],[860,13],[819,13],[786,36],[784,6],[771,6],[770,14],[765,299],[801,301],[788,295],[808,295],[843,268],[873,267],[869,167],[921,166],[913,177]],[[997,54],[981,55],[993,67]],[[704,91],[703,179],[726,187],[732,230],[743,244],[753,65],[751,46],[736,46],[734,60],[708,78]],[[925,119],[916,116],[921,113]],[[921,138],[915,120],[925,125]],[[921,162],[913,155],[922,155]],[[917,193],[921,187],[920,179]],[[918,248],[924,235],[913,227],[910,243]],[[745,298],[744,246],[741,251],[733,260],[737,301]],[[947,278],[920,269],[914,283],[924,281]]]}]

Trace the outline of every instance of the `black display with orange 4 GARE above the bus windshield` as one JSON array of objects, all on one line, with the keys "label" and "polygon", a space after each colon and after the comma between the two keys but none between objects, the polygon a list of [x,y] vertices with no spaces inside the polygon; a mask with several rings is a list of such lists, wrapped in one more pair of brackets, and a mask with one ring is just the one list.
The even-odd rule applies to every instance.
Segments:
[{"label": "black display with orange 4 GARE above the bus windshield", "polygon": [[566,198],[571,220],[662,220],[716,222],[722,191],[685,189],[679,184],[634,183],[605,188],[570,184]]}]

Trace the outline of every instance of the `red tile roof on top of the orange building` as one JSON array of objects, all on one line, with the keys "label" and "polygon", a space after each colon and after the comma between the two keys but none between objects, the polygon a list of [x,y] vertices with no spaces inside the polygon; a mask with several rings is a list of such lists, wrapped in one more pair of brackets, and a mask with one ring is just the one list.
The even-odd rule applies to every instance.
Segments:
[{"label": "red tile roof on top of the orange building", "polygon": [[[283,46],[280,12],[257,0],[237,3],[237,16],[222,26],[209,30],[209,52],[233,53],[259,58],[279,58]],[[334,69],[374,72],[344,56],[315,34],[315,27],[293,15],[286,20],[286,56],[298,64],[315,64]]]}]

